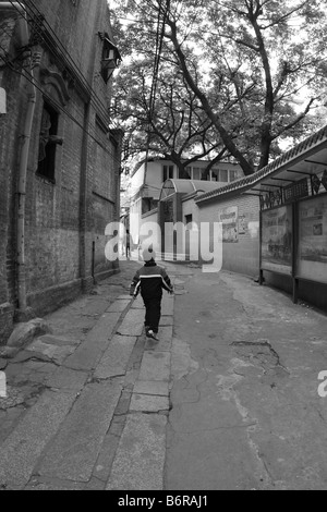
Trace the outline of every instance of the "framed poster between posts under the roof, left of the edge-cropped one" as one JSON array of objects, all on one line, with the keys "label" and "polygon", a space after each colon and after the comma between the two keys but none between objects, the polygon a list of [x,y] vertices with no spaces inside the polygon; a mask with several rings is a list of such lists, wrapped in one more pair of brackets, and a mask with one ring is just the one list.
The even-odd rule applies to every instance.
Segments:
[{"label": "framed poster between posts under the roof, left of the edge-cropped one", "polygon": [[292,207],[263,211],[262,268],[292,273]]}]

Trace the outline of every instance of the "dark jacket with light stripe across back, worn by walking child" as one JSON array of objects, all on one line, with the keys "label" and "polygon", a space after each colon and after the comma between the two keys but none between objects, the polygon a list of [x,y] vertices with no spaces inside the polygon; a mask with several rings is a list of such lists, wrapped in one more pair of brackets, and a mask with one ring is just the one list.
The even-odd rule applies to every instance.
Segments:
[{"label": "dark jacket with light stripe across back, worn by walking child", "polygon": [[150,260],[135,273],[130,295],[137,296],[141,291],[141,295],[145,298],[160,297],[162,288],[172,293],[172,285],[165,268]]}]

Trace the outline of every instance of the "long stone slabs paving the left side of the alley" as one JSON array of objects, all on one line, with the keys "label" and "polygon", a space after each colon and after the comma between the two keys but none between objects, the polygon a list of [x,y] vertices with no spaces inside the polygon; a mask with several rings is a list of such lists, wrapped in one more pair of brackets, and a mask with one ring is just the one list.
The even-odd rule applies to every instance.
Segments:
[{"label": "long stone slabs paving the left side of the alley", "polygon": [[129,295],[140,265],[121,263],[48,315],[50,333],[1,359],[1,489],[164,488],[173,297],[161,342],[146,341],[143,301]]}]

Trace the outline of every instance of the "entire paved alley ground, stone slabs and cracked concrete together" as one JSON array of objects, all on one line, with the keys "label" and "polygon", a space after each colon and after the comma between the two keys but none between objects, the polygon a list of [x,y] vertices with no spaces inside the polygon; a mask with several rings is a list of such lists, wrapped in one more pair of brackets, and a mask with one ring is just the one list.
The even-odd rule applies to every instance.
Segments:
[{"label": "entire paved alley ground, stone slabs and cracked concrete together", "polygon": [[326,489],[327,317],[228,272],[162,264],[160,341],[140,266],[45,317],[0,356],[2,489]]}]

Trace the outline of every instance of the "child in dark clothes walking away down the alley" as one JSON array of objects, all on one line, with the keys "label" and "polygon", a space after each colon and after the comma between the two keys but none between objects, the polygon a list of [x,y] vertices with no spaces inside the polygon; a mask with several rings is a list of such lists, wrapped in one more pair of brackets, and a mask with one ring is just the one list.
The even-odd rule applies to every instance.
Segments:
[{"label": "child in dark clothes walking away down the alley", "polygon": [[157,333],[161,316],[162,288],[168,293],[173,293],[173,289],[165,268],[156,264],[155,257],[156,254],[152,247],[143,252],[145,264],[133,278],[130,295],[133,295],[135,298],[141,291],[145,305],[145,333],[147,338],[158,340]]}]

